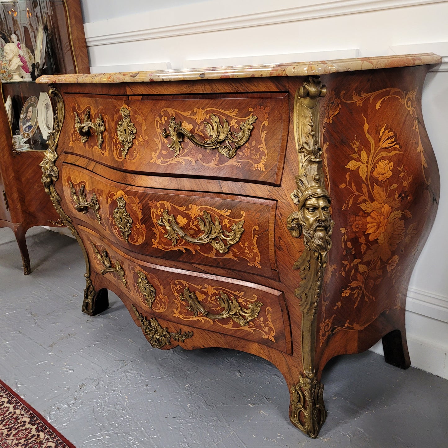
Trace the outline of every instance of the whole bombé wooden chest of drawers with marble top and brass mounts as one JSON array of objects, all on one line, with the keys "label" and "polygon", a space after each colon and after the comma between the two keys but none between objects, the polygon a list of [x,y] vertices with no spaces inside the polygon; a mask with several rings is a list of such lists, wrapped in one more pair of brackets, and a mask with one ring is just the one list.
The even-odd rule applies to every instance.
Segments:
[{"label": "whole bomb\u00e9 wooden chest of drawers with marble top and brass mounts", "polygon": [[[43,185],[86,255],[83,311],[125,303],[154,347],[273,362],[316,437],[326,362],[383,339],[435,217],[432,54],[54,76]],[[155,82],[157,81],[157,82]]]}]

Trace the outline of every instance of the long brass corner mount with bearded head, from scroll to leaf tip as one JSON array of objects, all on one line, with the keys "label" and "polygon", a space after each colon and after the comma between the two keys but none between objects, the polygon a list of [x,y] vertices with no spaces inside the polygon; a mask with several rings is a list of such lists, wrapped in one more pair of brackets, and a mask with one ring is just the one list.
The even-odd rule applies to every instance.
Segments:
[{"label": "long brass corner mount with bearded head, from scroll to leaf tip", "polygon": [[332,246],[334,221],[330,215],[330,196],[323,186],[323,161],[320,147],[318,99],[326,93],[325,86],[310,77],[297,91],[294,124],[299,173],[297,188],[291,194],[297,211],[289,215],[287,228],[293,237],[303,235],[304,251],[293,268],[300,271],[300,284],[295,296],[300,309],[314,316],[322,290],[323,270]]}]

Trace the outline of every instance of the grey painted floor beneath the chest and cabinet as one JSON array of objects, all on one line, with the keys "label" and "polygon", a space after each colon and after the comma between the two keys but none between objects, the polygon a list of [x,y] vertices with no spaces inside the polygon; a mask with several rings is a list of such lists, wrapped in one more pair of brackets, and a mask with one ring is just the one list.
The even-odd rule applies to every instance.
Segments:
[{"label": "grey painted floor beneath the chest and cabinet", "polygon": [[0,378],[78,448],[448,447],[448,382],[375,353],[332,360],[319,439],[288,419],[270,363],[225,349],[153,349],[120,299],[81,312],[84,260],[72,238],[28,232],[23,276],[0,229]]}]

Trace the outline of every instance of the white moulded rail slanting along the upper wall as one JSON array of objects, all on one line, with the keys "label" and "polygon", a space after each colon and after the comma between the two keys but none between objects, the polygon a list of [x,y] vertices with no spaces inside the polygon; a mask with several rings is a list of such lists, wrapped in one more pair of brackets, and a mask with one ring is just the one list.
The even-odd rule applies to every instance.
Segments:
[{"label": "white moulded rail slanting along the upper wall", "polygon": [[[138,14],[129,16],[124,15],[120,9],[118,17],[87,23],[85,29],[87,45],[93,46],[299,22],[439,2],[440,0],[333,0],[319,3],[309,0],[227,0],[223,7],[218,1],[194,3],[190,0],[189,4],[184,6],[173,7],[171,4],[169,8],[151,11],[148,11],[150,7],[145,6]],[[98,2],[95,1],[96,3]]]}]

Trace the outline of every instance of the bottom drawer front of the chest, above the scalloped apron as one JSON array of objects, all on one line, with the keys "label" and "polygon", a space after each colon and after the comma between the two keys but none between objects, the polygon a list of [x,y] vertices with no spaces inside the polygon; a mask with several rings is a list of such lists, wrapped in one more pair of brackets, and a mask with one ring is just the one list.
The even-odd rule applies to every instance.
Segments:
[{"label": "bottom drawer front of the chest, above the scalloped apron", "polygon": [[80,235],[91,268],[102,273],[140,309],[180,325],[291,352],[282,292],[142,263],[108,245],[90,229],[80,227]]}]

